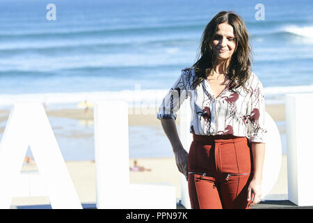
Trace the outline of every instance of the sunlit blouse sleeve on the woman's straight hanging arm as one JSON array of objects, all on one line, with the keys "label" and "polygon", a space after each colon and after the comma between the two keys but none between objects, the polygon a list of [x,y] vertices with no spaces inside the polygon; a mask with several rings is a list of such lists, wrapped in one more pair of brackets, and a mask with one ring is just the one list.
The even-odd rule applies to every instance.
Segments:
[{"label": "sunlit blouse sleeve on the woman's straight hanging arm", "polygon": [[265,126],[265,102],[264,90],[262,83],[255,76],[250,89],[250,100],[248,102],[248,138],[250,142],[265,143],[266,126]]}]

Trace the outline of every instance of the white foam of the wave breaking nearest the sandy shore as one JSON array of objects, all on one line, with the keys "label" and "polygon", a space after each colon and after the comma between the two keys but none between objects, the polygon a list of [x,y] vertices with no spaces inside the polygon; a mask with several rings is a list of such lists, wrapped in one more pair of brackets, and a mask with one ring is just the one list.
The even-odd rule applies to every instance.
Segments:
[{"label": "white foam of the wave breaking nearest the sandy shore", "polygon": [[[31,93],[1,94],[0,106],[7,107],[19,102],[37,102],[46,105],[71,104],[77,107],[81,102],[89,103],[103,100],[125,100],[130,107],[159,107],[168,89],[95,91],[77,93]],[[305,86],[273,86],[264,87],[266,103],[284,102],[287,93],[313,93],[313,84]]]}]

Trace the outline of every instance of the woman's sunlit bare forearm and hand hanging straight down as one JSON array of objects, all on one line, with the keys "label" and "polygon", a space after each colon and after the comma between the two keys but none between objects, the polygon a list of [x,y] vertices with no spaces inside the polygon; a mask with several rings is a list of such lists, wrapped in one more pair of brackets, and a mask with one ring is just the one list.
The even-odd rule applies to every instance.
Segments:
[{"label": "woman's sunlit bare forearm and hand hanging straight down", "polygon": [[248,187],[248,201],[251,199],[253,194],[252,202],[250,206],[261,201],[262,197],[262,174],[263,174],[263,162],[265,154],[265,144],[264,143],[252,143],[252,157],[253,157],[253,178]]}]

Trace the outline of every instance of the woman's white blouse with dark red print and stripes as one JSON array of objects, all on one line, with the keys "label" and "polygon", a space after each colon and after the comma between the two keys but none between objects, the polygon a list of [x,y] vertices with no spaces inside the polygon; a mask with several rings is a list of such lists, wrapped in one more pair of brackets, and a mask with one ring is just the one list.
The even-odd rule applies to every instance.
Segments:
[{"label": "woman's white blouse with dark red print and stripes", "polygon": [[233,134],[247,137],[250,142],[265,143],[265,103],[262,83],[254,72],[242,87],[229,90],[229,85],[214,96],[207,79],[195,89],[191,84],[195,77],[193,67],[184,68],[167,93],[157,112],[157,118],[177,118],[177,111],[186,98],[190,98],[192,119],[190,132],[201,135]]}]

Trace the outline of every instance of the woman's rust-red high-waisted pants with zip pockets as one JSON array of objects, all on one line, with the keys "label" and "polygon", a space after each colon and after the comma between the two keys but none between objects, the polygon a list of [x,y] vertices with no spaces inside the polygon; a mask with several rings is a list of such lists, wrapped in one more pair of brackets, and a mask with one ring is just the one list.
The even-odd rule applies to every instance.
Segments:
[{"label": "woman's rust-red high-waisted pants with zip pockets", "polygon": [[188,155],[191,208],[248,209],[252,164],[246,137],[193,134]]}]

